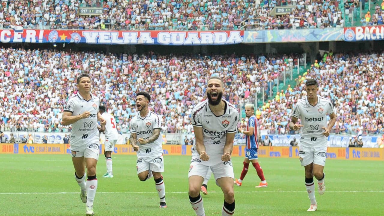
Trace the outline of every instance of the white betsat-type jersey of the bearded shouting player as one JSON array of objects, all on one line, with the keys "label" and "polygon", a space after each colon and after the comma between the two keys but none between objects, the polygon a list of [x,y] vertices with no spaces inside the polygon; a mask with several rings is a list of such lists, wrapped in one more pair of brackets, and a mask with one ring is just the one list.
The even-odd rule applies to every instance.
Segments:
[{"label": "white betsat-type jersey of the bearded shouting player", "polygon": [[[208,100],[197,104],[191,113],[191,123],[203,128],[205,151],[208,155],[223,155],[227,133],[236,133],[239,112],[226,100],[224,115],[215,116],[209,108]],[[196,143],[192,151],[196,151]]]}]

